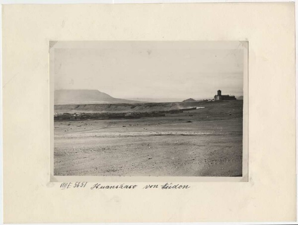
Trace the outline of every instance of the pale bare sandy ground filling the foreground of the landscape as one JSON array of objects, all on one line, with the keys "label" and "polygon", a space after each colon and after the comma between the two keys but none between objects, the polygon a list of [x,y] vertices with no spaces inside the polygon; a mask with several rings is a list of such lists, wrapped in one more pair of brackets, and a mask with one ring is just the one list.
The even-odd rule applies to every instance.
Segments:
[{"label": "pale bare sandy ground filling the foreground of the landscape", "polygon": [[239,176],[242,105],[211,102],[165,117],[55,121],[54,174]]}]

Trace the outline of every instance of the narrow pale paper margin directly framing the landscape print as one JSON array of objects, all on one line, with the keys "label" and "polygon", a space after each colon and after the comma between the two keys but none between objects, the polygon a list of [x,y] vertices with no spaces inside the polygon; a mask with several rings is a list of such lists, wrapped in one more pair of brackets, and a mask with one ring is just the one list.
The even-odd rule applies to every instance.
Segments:
[{"label": "narrow pale paper margin directly framing the landscape print", "polygon": [[[248,181],[248,41],[232,41],[237,43],[237,49],[243,50],[243,139],[242,139],[242,176],[241,177],[216,177],[216,176],[55,176],[54,175],[54,71],[55,71],[55,49],[69,48],[98,48],[104,45],[105,41],[98,42],[99,46],[94,42],[74,42],[74,41],[50,41],[49,42],[49,76],[50,76],[50,181],[51,182],[70,182],[70,181],[89,181],[89,182],[124,182],[124,181],[139,181],[139,182],[166,182],[166,181],[184,181],[184,182],[199,182],[199,181]],[[116,41],[117,42],[117,41]],[[138,42],[138,41],[136,41]],[[166,41],[161,41],[165,42]],[[181,41],[177,41],[181,43]],[[191,41],[200,44],[201,42]],[[113,42],[112,42],[113,43]],[[115,41],[114,41],[115,43]],[[225,49],[230,48],[230,42],[225,41],[209,41],[203,42],[204,49]],[[204,44],[201,44],[204,45]]]}]

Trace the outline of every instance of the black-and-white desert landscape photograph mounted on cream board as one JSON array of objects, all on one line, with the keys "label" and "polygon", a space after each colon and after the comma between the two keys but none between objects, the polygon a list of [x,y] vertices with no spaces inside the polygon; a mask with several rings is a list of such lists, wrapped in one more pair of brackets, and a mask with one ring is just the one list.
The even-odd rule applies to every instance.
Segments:
[{"label": "black-and-white desert landscape photograph mounted on cream board", "polygon": [[54,175],[242,176],[247,42],[50,42]]}]

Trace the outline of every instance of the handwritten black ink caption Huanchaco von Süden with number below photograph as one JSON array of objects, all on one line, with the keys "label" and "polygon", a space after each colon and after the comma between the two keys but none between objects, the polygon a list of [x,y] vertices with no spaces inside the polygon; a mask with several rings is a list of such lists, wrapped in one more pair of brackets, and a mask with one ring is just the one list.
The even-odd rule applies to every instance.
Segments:
[{"label": "handwritten black ink caption Huanchaco von S\u00fcden with number below photograph", "polygon": [[165,183],[162,185],[159,184],[147,184],[144,186],[136,185],[136,184],[116,184],[116,185],[103,185],[100,183],[96,184],[88,184],[88,182],[63,182],[60,185],[61,190],[70,189],[70,188],[89,188],[91,190],[102,190],[102,189],[188,189],[190,186],[188,184],[173,184],[173,183]]}]

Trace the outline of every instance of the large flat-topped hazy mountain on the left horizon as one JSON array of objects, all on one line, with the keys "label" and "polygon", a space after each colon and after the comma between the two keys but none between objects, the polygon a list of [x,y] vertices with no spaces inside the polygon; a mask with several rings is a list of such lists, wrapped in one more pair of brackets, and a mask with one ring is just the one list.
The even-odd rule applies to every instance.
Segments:
[{"label": "large flat-topped hazy mountain on the left horizon", "polygon": [[54,104],[113,104],[144,103],[141,101],[117,99],[98,90],[55,90]]}]

